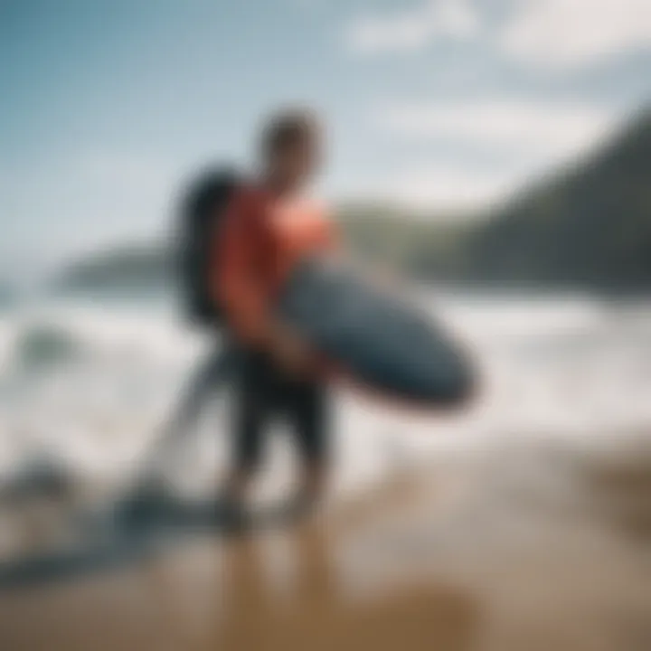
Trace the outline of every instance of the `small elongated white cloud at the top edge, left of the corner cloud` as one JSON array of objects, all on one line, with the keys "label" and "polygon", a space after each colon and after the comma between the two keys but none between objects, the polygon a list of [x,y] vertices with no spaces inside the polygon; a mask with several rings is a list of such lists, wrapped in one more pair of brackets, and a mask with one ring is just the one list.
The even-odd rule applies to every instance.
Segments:
[{"label": "small elongated white cloud at the top edge, left of the corner cloud", "polygon": [[468,0],[430,0],[410,11],[364,16],[350,25],[347,41],[362,54],[413,52],[439,38],[472,38],[479,29]]}]

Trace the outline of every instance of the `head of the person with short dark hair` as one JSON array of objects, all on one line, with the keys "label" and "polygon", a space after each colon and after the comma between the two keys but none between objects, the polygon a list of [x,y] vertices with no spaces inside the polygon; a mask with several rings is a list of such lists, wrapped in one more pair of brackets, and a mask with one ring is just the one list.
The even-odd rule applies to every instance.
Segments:
[{"label": "head of the person with short dark hair", "polygon": [[293,192],[309,183],[321,162],[322,133],[309,109],[286,109],[269,118],[260,138],[260,159],[270,184]]}]

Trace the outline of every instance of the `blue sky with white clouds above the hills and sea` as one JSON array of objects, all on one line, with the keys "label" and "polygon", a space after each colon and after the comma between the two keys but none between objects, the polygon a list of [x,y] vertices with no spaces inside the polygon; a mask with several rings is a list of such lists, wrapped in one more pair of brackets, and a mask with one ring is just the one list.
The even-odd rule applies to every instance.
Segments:
[{"label": "blue sky with white clouds above the hills and sea", "polygon": [[329,197],[504,198],[651,99],[650,6],[0,0],[0,272],[160,232],[293,101],[329,123]]}]

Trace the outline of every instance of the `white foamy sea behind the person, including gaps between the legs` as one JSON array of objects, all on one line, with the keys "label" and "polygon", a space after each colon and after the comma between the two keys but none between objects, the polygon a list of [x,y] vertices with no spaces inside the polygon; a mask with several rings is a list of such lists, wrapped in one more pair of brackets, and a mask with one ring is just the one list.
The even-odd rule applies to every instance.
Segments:
[{"label": "white foamy sea behind the person, including gaps between the legs", "polygon": [[[651,300],[587,293],[419,292],[473,351],[476,401],[419,414],[339,390],[335,486],[353,490],[396,464],[465,454],[500,439],[651,436]],[[0,312],[0,477],[53,459],[80,481],[137,473],[195,366],[214,346],[165,294],[37,297]],[[229,394],[187,432],[170,474],[214,486],[228,459]],[[292,450],[278,424],[262,492],[284,486]],[[276,436],[278,434],[278,436]],[[192,485],[192,486],[191,486]],[[278,488],[279,489],[279,488]]]}]

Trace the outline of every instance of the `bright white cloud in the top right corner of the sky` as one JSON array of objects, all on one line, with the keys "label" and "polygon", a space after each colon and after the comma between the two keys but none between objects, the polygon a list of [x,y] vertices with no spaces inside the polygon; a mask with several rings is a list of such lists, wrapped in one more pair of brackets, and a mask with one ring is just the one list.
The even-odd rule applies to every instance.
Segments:
[{"label": "bright white cloud in the top right corner of the sky", "polygon": [[578,69],[638,47],[651,48],[649,0],[520,2],[499,46],[535,66]]}]

